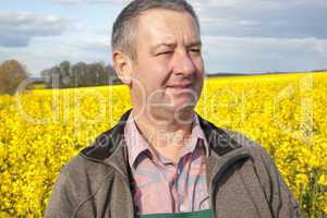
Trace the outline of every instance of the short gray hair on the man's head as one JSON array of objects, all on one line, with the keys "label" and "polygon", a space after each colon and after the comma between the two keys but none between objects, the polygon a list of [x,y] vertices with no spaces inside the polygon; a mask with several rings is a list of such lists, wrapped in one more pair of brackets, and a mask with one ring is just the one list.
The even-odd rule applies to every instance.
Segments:
[{"label": "short gray hair on the man's head", "polygon": [[136,59],[136,35],[138,16],[150,9],[166,9],[187,12],[194,19],[199,31],[198,17],[193,7],[185,0],[134,0],[130,2],[118,15],[113,23],[111,35],[112,51],[121,50],[133,60]]}]

